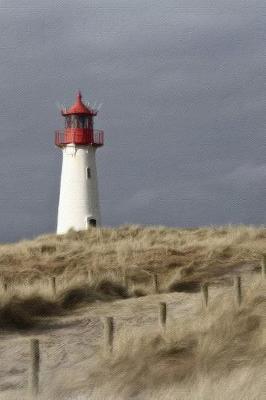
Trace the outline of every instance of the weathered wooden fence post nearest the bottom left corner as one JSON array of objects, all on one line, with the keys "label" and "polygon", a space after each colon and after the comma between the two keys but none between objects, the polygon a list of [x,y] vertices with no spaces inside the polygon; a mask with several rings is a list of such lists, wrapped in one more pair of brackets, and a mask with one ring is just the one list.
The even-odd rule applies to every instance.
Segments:
[{"label": "weathered wooden fence post nearest the bottom left corner", "polygon": [[40,345],[38,339],[31,339],[30,353],[29,392],[32,399],[36,399],[39,392],[40,372]]}]

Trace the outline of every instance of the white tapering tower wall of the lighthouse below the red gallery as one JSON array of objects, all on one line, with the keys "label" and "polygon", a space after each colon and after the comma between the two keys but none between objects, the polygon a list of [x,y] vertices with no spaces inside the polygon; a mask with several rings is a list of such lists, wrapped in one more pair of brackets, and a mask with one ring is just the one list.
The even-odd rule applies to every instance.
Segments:
[{"label": "white tapering tower wall of the lighthouse below the red gallery", "polygon": [[[87,229],[89,218],[96,219],[97,226],[101,225],[96,148],[68,144],[62,152],[57,233],[66,233],[70,228]],[[91,171],[90,178],[87,178],[87,168]]]}]

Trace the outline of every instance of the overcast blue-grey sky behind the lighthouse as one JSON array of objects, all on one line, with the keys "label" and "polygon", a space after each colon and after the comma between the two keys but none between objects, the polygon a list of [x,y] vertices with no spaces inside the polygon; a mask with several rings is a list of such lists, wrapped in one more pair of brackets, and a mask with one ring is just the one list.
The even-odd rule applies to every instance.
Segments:
[{"label": "overcast blue-grey sky behind the lighthouse", "polygon": [[56,228],[77,89],[102,220],[266,223],[265,0],[0,0],[0,241]]}]

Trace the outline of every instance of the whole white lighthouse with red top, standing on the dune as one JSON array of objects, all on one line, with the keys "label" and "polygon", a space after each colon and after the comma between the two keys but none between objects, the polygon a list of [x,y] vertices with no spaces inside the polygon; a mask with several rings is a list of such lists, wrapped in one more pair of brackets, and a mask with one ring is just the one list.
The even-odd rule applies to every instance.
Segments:
[{"label": "whole white lighthouse with red top, standing on the dune", "polygon": [[103,146],[104,132],[94,129],[97,110],[82,101],[61,110],[65,128],[55,132],[55,144],[63,153],[57,233],[101,225],[96,150]]}]

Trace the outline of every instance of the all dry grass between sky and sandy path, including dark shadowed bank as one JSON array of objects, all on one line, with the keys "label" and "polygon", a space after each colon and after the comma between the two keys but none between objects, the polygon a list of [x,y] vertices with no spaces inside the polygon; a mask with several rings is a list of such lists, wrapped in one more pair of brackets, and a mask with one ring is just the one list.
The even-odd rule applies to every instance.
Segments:
[{"label": "all dry grass between sky and sandy path, including dark shadowed bank", "polygon": [[151,294],[154,273],[160,292],[196,292],[206,280],[226,284],[234,270],[256,270],[264,253],[266,229],[253,226],[124,226],[1,245],[0,328],[30,328],[36,317],[66,308]]}]

